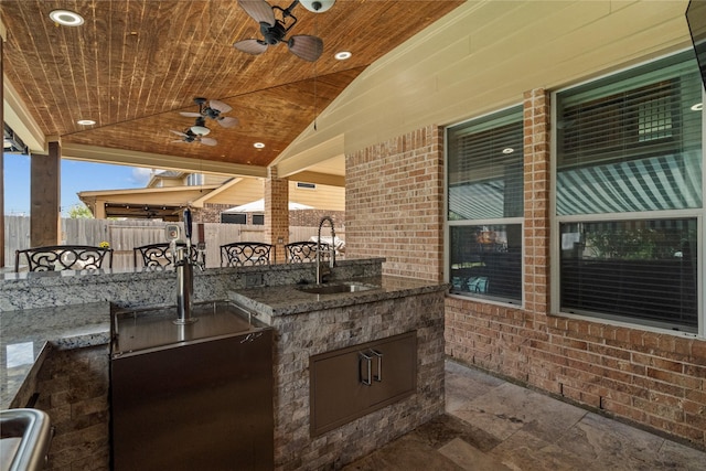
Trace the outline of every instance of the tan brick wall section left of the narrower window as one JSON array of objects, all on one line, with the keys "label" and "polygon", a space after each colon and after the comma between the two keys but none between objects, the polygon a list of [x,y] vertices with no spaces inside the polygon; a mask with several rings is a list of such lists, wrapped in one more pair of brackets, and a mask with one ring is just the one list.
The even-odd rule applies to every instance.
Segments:
[{"label": "tan brick wall section left of the narrower window", "polygon": [[427,126],[345,158],[346,257],[442,279],[443,130]]}]

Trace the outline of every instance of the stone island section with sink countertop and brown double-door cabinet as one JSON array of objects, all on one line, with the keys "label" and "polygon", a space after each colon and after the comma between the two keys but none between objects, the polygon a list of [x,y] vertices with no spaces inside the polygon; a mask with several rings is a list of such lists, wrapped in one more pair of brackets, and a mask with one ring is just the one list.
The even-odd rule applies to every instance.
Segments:
[{"label": "stone island section with sink countertop and brown double-door cabinet", "polygon": [[363,290],[229,293],[275,331],[278,470],[339,469],[443,413],[448,287],[386,276],[355,283]]}]

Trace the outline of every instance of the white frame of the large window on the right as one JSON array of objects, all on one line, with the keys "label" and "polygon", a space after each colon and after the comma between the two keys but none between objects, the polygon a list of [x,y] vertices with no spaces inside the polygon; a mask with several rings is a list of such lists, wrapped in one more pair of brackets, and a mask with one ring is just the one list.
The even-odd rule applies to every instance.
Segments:
[{"label": "white frame of the large window on the right", "polygon": [[[685,50],[688,51],[688,50]],[[586,86],[591,83],[598,83],[603,78],[613,77],[620,75],[624,72],[629,72],[635,68],[639,68],[644,65],[649,65],[652,63],[661,62],[668,60],[670,57],[677,56],[683,54],[685,51],[677,51],[673,54],[668,54],[662,57],[657,57],[652,61],[646,61],[641,64],[637,64],[631,67],[625,67],[620,71],[612,72],[610,74],[605,74],[601,76],[597,76],[590,78],[588,81],[584,81],[581,83],[574,84],[571,86],[567,86],[560,89],[556,89],[552,92],[550,98],[550,116],[552,116],[552,131],[550,131],[550,178],[554,183],[550,189],[550,199],[549,199],[549,224],[550,224],[550,308],[549,312],[554,315],[559,315],[564,318],[571,319],[581,319],[588,320],[592,322],[603,322],[613,325],[627,327],[632,329],[641,329],[648,331],[654,331],[660,333],[668,333],[672,335],[686,336],[686,338],[706,338],[706,308],[704,307],[704,293],[706,292],[706,272],[704,271],[705,263],[704,258],[706,257],[706,240],[704,240],[705,233],[705,222],[706,222],[706,158],[704,157],[704,151],[706,150],[706,113],[702,109],[702,207],[697,208],[680,208],[680,210],[659,210],[659,211],[641,211],[641,212],[621,212],[621,213],[599,213],[599,214],[575,214],[575,215],[558,215],[557,214],[557,185],[558,181],[558,130],[557,130],[557,121],[558,121],[558,94],[574,89],[576,87]],[[699,81],[700,83],[700,81]],[[704,86],[702,83],[702,103],[706,103],[706,93],[704,90]],[[591,223],[591,222],[610,222],[610,221],[620,221],[620,222],[629,222],[637,220],[676,220],[676,218],[695,218],[696,220],[696,231],[697,231],[697,240],[700,244],[697,244],[697,276],[700,277],[696,281],[696,297],[697,297],[697,329],[696,332],[686,332],[668,329],[660,325],[659,323],[651,322],[649,320],[632,320],[623,317],[613,317],[606,313],[573,313],[565,312],[561,310],[560,306],[560,292],[561,292],[561,280],[560,280],[560,257],[561,257],[561,240],[560,240],[560,225],[565,223]]]}]

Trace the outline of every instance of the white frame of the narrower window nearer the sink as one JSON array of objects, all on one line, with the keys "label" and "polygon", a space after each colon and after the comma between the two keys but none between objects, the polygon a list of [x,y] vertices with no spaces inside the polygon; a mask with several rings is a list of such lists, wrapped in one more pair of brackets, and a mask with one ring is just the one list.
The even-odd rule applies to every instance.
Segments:
[{"label": "white frame of the narrower window nearer the sink", "polygon": [[[524,218],[524,211],[523,214],[520,216],[514,216],[514,217],[498,217],[498,218],[483,218],[483,220],[449,220],[449,162],[450,162],[450,158],[449,158],[449,132],[448,130],[450,128],[453,127],[458,127],[458,126],[463,126],[466,124],[470,124],[472,121],[478,121],[478,120],[482,120],[485,118],[491,118],[493,116],[496,115],[501,115],[504,113],[509,113],[514,108],[520,108],[522,110],[522,114],[524,116],[524,106],[523,103],[515,103],[511,106],[504,107],[504,108],[500,108],[500,109],[495,109],[491,113],[484,114],[484,115],[480,115],[473,118],[469,118],[466,119],[463,121],[459,121],[459,122],[454,122],[454,124],[450,124],[445,126],[443,129],[443,149],[445,149],[445,159],[443,159],[443,279],[446,282],[450,283],[451,282],[451,260],[450,260],[450,256],[451,256],[451,227],[458,227],[458,226],[499,226],[499,225],[504,225],[504,226],[509,226],[509,225],[517,225],[520,226],[520,234],[521,234],[521,251],[520,251],[520,279],[521,279],[521,288],[520,288],[520,300],[509,300],[509,299],[503,299],[500,297],[495,297],[495,296],[489,296],[489,295],[483,295],[483,293],[472,293],[472,292],[468,292],[468,293],[459,293],[459,292],[449,292],[449,296],[451,297],[458,297],[460,299],[464,299],[464,300],[469,300],[469,301],[477,301],[477,302],[483,302],[483,303],[491,303],[491,304],[498,304],[498,306],[504,306],[504,307],[511,307],[511,308],[524,308],[525,304],[525,289],[524,289],[524,277],[525,277],[525,264],[524,264],[524,258],[525,258],[525,250],[526,250],[526,244],[525,244],[525,238],[524,238],[524,229],[525,229],[525,218]],[[522,118],[521,118],[522,119]],[[523,133],[524,133],[524,125],[523,125]],[[524,164],[524,149],[523,149],[523,162]],[[524,191],[524,172],[522,174],[523,176],[523,185],[522,185],[522,191]],[[524,207],[524,195],[523,195],[523,207]]]}]

